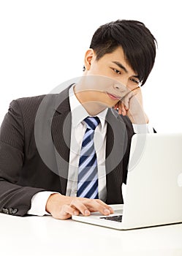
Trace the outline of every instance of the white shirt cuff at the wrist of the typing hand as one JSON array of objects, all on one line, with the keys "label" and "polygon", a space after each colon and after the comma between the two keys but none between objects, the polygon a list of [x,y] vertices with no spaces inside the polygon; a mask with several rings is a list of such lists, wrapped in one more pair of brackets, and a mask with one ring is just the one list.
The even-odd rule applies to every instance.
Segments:
[{"label": "white shirt cuff at the wrist of the typing hand", "polygon": [[31,198],[31,208],[27,214],[43,216],[50,215],[48,211],[45,211],[45,206],[48,201],[48,198],[52,194],[60,194],[58,192],[42,191],[38,192]]}]

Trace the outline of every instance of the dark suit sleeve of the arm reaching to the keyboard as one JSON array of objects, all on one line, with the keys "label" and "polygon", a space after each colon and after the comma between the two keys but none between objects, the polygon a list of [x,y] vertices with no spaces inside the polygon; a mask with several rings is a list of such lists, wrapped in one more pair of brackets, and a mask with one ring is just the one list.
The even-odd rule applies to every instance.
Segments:
[{"label": "dark suit sleeve of the arm reaching to the keyboard", "polygon": [[15,100],[0,129],[0,212],[18,216],[26,215],[31,197],[45,190],[17,184],[24,161],[24,132],[21,110]]}]

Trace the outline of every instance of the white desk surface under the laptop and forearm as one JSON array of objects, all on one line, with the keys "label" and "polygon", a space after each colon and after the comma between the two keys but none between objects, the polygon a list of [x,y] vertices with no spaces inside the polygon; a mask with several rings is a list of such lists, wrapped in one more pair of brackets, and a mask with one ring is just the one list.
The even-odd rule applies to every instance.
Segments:
[{"label": "white desk surface under the laptop and forearm", "polygon": [[72,219],[0,214],[0,255],[181,256],[182,224],[121,231]]}]

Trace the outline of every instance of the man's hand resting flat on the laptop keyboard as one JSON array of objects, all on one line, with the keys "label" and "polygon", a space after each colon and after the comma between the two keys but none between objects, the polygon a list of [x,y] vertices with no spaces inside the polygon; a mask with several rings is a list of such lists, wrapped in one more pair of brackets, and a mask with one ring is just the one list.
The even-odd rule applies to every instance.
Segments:
[{"label": "man's hand resting flat on the laptop keyboard", "polygon": [[102,200],[67,197],[60,194],[50,195],[45,209],[56,219],[69,219],[72,215],[78,214],[88,216],[93,211],[99,211],[103,215],[113,214],[114,212]]}]

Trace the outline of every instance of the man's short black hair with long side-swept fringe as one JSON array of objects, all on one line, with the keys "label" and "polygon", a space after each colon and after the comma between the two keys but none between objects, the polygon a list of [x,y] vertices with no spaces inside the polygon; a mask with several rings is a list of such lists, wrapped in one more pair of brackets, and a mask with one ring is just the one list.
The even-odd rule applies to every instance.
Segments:
[{"label": "man's short black hair with long side-swept fringe", "polygon": [[129,66],[137,73],[142,85],[153,68],[156,57],[156,39],[144,23],[137,20],[116,20],[97,29],[90,48],[96,60],[121,46]]}]

